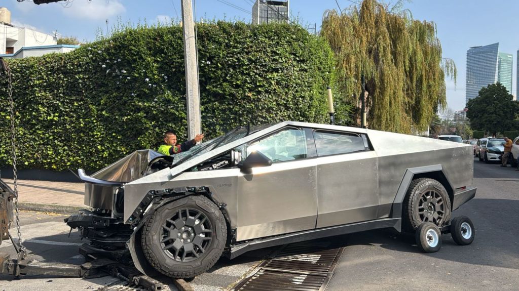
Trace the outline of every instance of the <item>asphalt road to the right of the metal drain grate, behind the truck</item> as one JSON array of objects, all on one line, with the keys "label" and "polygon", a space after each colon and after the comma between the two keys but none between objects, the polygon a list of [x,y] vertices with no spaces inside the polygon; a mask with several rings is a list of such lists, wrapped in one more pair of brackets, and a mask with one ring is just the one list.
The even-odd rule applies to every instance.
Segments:
[{"label": "asphalt road to the right of the metal drain grate, behind the truck", "polygon": [[474,185],[476,197],[453,212],[474,223],[472,244],[443,235],[442,249],[425,254],[391,231],[349,235],[327,290],[518,290],[519,171],[474,159]]}]

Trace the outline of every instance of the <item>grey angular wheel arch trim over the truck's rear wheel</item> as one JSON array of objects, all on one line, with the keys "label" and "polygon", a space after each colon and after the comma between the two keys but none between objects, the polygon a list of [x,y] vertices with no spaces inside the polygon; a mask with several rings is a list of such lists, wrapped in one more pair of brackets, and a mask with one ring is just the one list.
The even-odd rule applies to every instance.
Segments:
[{"label": "grey angular wheel arch trim over the truck's rear wheel", "polygon": [[454,202],[454,187],[448,180],[447,176],[443,172],[442,165],[432,165],[432,166],[424,166],[424,167],[416,167],[416,168],[408,168],[406,169],[402,181],[400,182],[400,186],[397,191],[397,195],[393,200],[393,205],[391,207],[391,218],[402,217],[403,213],[403,202],[405,199],[405,195],[407,194],[407,190],[411,185],[411,181],[418,178],[430,178],[440,182],[447,191],[449,196],[450,205],[453,205]]}]

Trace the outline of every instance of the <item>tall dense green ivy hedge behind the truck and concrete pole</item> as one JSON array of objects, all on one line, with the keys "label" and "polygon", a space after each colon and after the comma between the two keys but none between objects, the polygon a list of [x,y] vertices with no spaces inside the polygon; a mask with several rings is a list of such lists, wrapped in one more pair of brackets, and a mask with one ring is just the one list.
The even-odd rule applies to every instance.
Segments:
[{"label": "tall dense green ivy hedge behind the truck and concrete pole", "polygon": [[[284,120],[327,122],[333,53],[288,24],[198,25],[202,132]],[[19,167],[100,169],[186,138],[180,26],[126,28],[66,54],[9,60]],[[11,165],[7,80],[0,78],[0,167]]]}]

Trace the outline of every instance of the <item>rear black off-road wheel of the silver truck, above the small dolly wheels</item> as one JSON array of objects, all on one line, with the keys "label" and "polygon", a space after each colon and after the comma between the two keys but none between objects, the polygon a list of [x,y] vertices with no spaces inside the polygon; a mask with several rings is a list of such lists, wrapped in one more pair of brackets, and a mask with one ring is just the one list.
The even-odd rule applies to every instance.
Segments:
[{"label": "rear black off-road wheel of the silver truck, above the small dolly wheels", "polygon": [[[433,193],[432,196],[435,196],[435,201],[431,199],[427,207],[430,207],[429,204],[432,203],[433,209],[419,209],[420,205],[423,206],[427,203],[426,201],[420,201],[422,196],[425,195],[427,198],[431,193]],[[438,205],[434,205],[435,203]],[[438,227],[442,227],[450,221],[451,207],[449,195],[442,183],[434,179],[418,178],[413,180],[407,189],[403,209],[402,219],[405,231],[413,232],[420,224],[428,221],[433,222]],[[424,213],[423,211],[426,210],[427,213]],[[429,214],[431,211],[432,214]]]}]

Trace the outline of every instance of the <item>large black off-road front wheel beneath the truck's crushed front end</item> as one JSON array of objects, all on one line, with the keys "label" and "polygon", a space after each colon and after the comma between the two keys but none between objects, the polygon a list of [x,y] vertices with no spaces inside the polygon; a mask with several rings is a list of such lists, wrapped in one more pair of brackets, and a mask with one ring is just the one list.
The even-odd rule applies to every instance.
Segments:
[{"label": "large black off-road front wheel beneath the truck's crushed front end", "polygon": [[[190,216],[191,214],[189,213],[200,213],[200,219],[201,217],[206,217],[206,220],[203,223],[199,222],[197,226],[197,224],[193,222],[193,219],[196,217]],[[183,216],[186,216],[185,220]],[[181,227],[176,229],[176,224],[172,224],[173,220],[177,224],[182,224],[180,220],[184,220],[185,225],[183,225],[183,227],[185,227],[186,230],[181,230]],[[195,224],[197,227],[190,227],[192,232],[189,232],[187,226],[191,224]],[[198,228],[198,230],[196,230],[196,228]],[[173,232],[174,235],[172,234]],[[191,251],[189,253],[189,251],[186,251],[186,249],[189,249],[187,243],[186,245],[184,245],[184,242],[180,243],[180,238],[184,236],[186,232],[187,235],[184,241],[187,242],[187,238],[193,240],[190,248],[194,249],[194,252]],[[203,239],[206,239],[205,236],[211,237],[209,243],[203,245],[201,249],[198,248],[198,245],[194,244],[195,238],[197,239],[197,243],[203,243],[199,242],[202,240],[198,238],[200,233],[203,233]],[[190,234],[194,234],[194,237],[191,237]],[[178,236],[178,238],[168,239],[173,236]],[[164,242],[164,240],[167,241]],[[211,200],[204,196],[188,196],[158,208],[149,221],[143,226],[141,239],[143,253],[149,264],[157,271],[172,278],[193,278],[206,272],[222,255],[226,241],[227,225],[224,215]],[[178,255],[175,255],[175,248],[165,249],[175,243],[184,245],[178,248],[180,250]],[[185,254],[185,258],[181,257],[181,253]],[[197,254],[195,255],[195,253]]]}]

